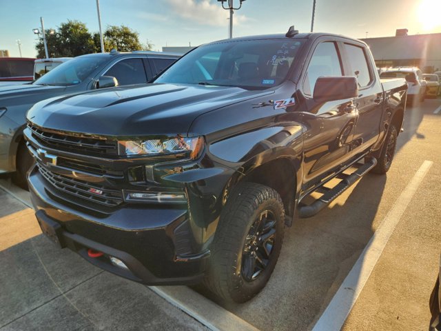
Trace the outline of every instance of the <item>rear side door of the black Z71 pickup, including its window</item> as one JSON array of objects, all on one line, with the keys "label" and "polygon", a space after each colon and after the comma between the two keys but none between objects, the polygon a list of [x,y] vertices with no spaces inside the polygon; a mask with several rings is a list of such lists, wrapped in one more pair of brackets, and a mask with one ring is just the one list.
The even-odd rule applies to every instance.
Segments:
[{"label": "rear side door of the black Z71 pickup, including its window", "polygon": [[346,42],[341,45],[342,53],[345,54],[347,76],[355,76],[358,80],[358,98],[355,101],[358,119],[353,136],[355,156],[365,152],[378,139],[382,122],[383,91],[365,46]]}]

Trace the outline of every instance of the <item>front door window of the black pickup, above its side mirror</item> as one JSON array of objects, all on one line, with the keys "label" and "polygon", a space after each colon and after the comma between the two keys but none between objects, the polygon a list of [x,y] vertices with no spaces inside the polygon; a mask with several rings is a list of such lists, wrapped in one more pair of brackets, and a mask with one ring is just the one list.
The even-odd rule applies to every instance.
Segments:
[{"label": "front door window of the black pickup, above its side mirror", "polygon": [[312,95],[318,77],[342,76],[342,67],[336,48],[336,43],[320,43],[309,61],[305,81],[303,82],[303,92]]}]

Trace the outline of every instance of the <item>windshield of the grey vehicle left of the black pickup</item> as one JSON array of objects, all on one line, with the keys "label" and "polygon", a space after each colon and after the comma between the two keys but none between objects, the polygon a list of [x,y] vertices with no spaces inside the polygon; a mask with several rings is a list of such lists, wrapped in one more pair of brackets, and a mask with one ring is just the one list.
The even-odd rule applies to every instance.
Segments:
[{"label": "windshield of the grey vehicle left of the black pickup", "polygon": [[34,81],[34,84],[50,86],[77,85],[88,78],[105,61],[107,61],[105,57],[76,57],[50,70],[43,77]]}]

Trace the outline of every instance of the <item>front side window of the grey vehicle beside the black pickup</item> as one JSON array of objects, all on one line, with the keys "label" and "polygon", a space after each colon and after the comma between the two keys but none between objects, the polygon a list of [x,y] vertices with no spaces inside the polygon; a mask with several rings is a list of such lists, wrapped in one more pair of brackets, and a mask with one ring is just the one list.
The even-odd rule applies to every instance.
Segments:
[{"label": "front side window of the grey vehicle beside the black pickup", "polygon": [[141,84],[147,82],[142,59],[124,59],[107,70],[105,76],[112,76],[119,85]]}]

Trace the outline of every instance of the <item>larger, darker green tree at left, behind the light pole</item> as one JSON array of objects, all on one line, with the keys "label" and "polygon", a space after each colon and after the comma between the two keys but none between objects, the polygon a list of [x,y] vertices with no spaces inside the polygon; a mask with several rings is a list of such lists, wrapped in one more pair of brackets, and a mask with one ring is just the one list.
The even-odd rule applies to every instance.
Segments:
[{"label": "larger, darker green tree at left, behind the light pole", "polygon": [[[49,57],[77,57],[97,50],[85,23],[69,20],[67,23],[61,23],[54,34],[50,34],[50,30],[46,30]],[[39,39],[35,48],[38,52],[37,57],[45,58],[43,37]]]}]

